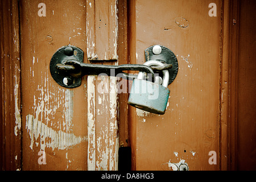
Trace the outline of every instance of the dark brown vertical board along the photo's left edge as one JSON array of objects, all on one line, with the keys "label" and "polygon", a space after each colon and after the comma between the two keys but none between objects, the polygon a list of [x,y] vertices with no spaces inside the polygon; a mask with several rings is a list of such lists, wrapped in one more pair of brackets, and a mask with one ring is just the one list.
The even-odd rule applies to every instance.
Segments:
[{"label": "dark brown vertical board along the photo's left edge", "polygon": [[0,169],[22,169],[18,1],[0,1]]}]

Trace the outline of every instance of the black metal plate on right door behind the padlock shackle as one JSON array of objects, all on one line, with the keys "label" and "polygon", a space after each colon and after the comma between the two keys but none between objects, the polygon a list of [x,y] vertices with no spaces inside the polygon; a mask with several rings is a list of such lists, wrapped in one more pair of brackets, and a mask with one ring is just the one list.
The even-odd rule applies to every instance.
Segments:
[{"label": "black metal plate on right door behind the padlock shackle", "polygon": [[[145,51],[144,51],[145,59],[146,59],[146,61],[158,60],[158,61],[164,61],[167,64],[172,64],[172,68],[168,70],[169,75],[170,75],[169,84],[171,84],[175,80],[175,78],[177,76],[177,72],[179,70],[179,64],[177,62],[177,57],[175,56],[174,52],[172,52],[167,47],[164,47],[161,45],[158,45],[158,46],[160,46],[162,48],[162,52],[159,55],[155,55],[152,51],[154,46],[150,46],[145,49]],[[161,76],[161,73],[159,73],[159,76]]]}]

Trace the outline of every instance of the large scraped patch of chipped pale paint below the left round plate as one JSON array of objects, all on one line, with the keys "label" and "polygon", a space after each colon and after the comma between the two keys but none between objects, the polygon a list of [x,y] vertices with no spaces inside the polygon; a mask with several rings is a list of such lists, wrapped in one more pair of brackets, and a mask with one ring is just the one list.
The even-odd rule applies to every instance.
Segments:
[{"label": "large scraped patch of chipped pale paint below the left round plate", "polygon": [[[57,88],[54,93],[49,91],[47,76],[44,77],[44,84],[38,85],[31,108],[33,112],[26,115],[31,150],[34,144],[41,150],[45,150],[46,147],[64,150],[87,139],[72,133],[73,92],[71,89],[63,88]],[[60,121],[61,118],[55,120],[59,108],[63,108],[63,121]]]}]

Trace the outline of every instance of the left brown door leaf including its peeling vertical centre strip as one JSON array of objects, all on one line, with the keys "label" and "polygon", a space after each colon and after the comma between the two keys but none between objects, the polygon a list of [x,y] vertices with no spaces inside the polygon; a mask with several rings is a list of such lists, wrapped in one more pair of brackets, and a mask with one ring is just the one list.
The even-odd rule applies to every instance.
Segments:
[{"label": "left brown door leaf including its peeling vertical centre strip", "polygon": [[[67,89],[49,71],[67,45],[84,51],[84,63],[118,64],[117,28],[115,0],[20,1],[24,170],[117,169],[117,79],[85,76]],[[97,92],[101,82],[110,94]]]}]

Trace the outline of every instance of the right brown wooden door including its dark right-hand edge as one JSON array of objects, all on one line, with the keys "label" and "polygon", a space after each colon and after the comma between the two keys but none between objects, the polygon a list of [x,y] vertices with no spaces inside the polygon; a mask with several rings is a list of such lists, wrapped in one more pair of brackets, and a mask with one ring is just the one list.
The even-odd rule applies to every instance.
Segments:
[{"label": "right brown wooden door including its dark right-hand edge", "polygon": [[[247,14],[245,10],[253,7],[255,3],[244,1],[129,2],[130,63],[143,64],[143,50],[154,44],[170,48],[179,61],[177,77],[168,86],[171,93],[166,114],[129,107],[133,169],[176,170],[181,164],[189,170],[236,169],[234,161],[246,158],[244,147],[249,146],[250,166],[255,164],[255,144],[249,144],[255,140],[255,118],[251,117],[255,102],[249,99],[253,109],[243,102],[254,92],[255,81],[247,78],[250,86],[241,85],[241,79],[250,75],[246,65],[250,63],[249,55],[255,52],[249,44],[246,50],[252,52],[243,49],[246,37],[251,44],[255,42],[254,31],[245,26],[245,17],[255,17],[253,11]],[[239,55],[246,64],[237,59],[237,51],[241,51]],[[254,63],[250,65],[255,68]],[[239,69],[242,78],[234,69]],[[237,109],[237,97],[239,107],[245,110]],[[252,127],[249,130],[242,123],[245,113],[250,113],[245,119]],[[250,136],[245,135],[245,130],[250,131]]]}]

